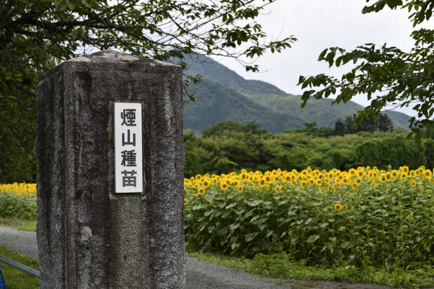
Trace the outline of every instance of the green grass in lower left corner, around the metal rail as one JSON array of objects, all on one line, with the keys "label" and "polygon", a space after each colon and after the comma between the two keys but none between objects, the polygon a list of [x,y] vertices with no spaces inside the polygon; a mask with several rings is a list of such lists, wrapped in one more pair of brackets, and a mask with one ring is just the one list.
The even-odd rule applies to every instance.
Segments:
[{"label": "green grass in lower left corner, around the metal rail", "polygon": [[[39,261],[0,246],[0,255],[39,270]],[[1,263],[7,289],[39,289],[39,279]]]}]

